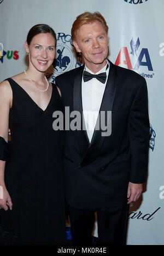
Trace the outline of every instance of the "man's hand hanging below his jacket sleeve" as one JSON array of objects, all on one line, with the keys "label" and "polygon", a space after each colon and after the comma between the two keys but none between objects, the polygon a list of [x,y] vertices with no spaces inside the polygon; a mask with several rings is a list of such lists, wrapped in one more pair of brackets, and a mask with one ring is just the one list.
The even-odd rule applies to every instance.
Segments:
[{"label": "man's hand hanging below his jacket sleeve", "polygon": [[137,201],[141,194],[142,183],[136,184],[129,182],[127,190],[127,204]]}]

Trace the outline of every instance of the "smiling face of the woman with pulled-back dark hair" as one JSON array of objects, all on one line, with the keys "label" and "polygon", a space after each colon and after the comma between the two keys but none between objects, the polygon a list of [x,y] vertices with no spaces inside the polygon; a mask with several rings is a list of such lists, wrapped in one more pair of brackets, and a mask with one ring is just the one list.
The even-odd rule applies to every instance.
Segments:
[{"label": "smiling face of the woman with pulled-back dark hair", "polygon": [[29,53],[29,66],[45,72],[55,58],[55,38],[50,33],[38,34],[30,45],[25,42],[25,49]]}]

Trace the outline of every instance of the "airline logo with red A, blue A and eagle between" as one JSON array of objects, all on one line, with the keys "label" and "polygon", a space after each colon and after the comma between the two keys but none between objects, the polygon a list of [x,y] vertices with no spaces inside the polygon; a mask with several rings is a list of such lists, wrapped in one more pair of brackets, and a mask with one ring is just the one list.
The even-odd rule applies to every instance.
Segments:
[{"label": "airline logo with red A, blue A and eagle between", "polygon": [[[115,65],[122,65],[123,67],[126,66],[128,69],[137,71],[139,75],[153,78],[154,73],[151,72],[153,71],[153,66],[151,65],[148,48],[140,49],[139,37],[137,38],[137,41],[134,41],[134,38],[132,37],[130,47],[130,51],[128,51],[127,47],[121,47],[118,57],[116,58]],[[140,71],[140,67],[143,66],[147,67],[151,73],[145,74],[143,71]]]}]

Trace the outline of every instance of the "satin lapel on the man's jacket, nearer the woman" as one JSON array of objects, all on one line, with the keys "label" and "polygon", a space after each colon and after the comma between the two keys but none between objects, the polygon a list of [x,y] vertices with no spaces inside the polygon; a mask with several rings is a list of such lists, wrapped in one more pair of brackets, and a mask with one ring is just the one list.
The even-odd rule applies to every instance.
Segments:
[{"label": "satin lapel on the man's jacket, nearer the woman", "polygon": [[83,77],[84,66],[81,67],[79,72],[74,77],[74,88],[73,88],[73,106],[74,110],[80,113],[81,119],[81,130],[75,131],[77,140],[79,143],[79,149],[81,156],[83,157],[87,148],[89,147],[89,139],[85,128],[85,122],[83,120],[83,104],[81,96],[81,79]]}]

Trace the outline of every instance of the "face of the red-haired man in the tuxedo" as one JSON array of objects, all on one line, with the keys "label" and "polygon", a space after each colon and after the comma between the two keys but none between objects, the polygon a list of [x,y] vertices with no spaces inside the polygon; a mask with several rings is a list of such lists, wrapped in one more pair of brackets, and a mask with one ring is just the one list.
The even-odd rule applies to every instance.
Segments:
[{"label": "face of the red-haired man in the tuxedo", "polygon": [[84,62],[91,71],[106,65],[109,37],[99,21],[79,27],[73,41],[77,52],[83,53]]}]

